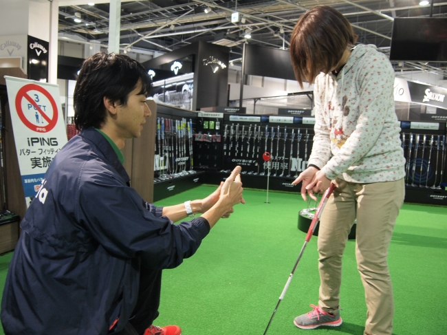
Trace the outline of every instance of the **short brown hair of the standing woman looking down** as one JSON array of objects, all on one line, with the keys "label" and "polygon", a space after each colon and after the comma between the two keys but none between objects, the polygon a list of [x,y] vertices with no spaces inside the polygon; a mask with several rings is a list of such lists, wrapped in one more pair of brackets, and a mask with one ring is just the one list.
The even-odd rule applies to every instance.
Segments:
[{"label": "short brown hair of the standing woman looking down", "polygon": [[304,81],[313,83],[320,71],[328,73],[357,38],[351,23],[335,8],[316,6],[305,12],[290,39],[290,58],[300,86]]}]

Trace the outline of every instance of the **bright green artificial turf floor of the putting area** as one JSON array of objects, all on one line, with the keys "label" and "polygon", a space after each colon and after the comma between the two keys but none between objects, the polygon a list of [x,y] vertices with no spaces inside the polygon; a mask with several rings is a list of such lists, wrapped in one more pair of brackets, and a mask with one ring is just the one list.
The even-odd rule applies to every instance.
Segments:
[{"label": "bright green artificial turf floor of the putting area", "polygon": [[[214,186],[199,186],[157,202],[159,206],[199,199]],[[229,219],[212,228],[197,253],[165,270],[160,316],[155,324],[177,324],[183,335],[262,335],[304,243],[298,211],[306,208],[292,193],[244,191]],[[317,238],[309,242],[279,306],[269,335],[362,335],[364,291],[356,269],[355,241],[343,259],[341,327],[301,330],[298,314],[318,303]],[[0,257],[0,289],[12,253]],[[441,335],[447,330],[447,208],[404,204],[389,250],[395,293],[394,335]],[[2,329],[0,334],[3,335]]]}]

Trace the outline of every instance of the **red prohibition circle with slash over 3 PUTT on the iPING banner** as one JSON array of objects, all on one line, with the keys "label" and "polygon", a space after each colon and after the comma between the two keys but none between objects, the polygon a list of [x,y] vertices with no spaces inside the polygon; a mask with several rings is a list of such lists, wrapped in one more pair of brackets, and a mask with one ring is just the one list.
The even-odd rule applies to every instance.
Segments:
[{"label": "red prohibition circle with slash over 3 PUTT on the iPING banner", "polygon": [[[39,107],[39,105],[37,105],[36,101],[34,101],[34,99],[31,98],[31,96],[28,94],[29,91],[38,91],[41,94],[43,94],[50,101],[50,104],[51,104],[51,107],[53,110],[52,118],[47,116],[47,111],[42,111],[41,107]],[[32,123],[32,122],[30,122],[30,120],[28,120],[28,118],[23,113],[23,108],[22,108],[22,99],[23,98],[28,100],[28,102],[30,102],[30,104],[34,107],[34,109],[39,112],[39,114],[42,116],[42,118],[48,122],[47,125],[45,125],[45,126],[44,125],[34,125],[34,123]],[[26,127],[30,128],[32,131],[37,131],[38,133],[46,133],[47,131],[52,130],[58,120],[58,108],[56,105],[56,101],[54,101],[54,98],[47,90],[45,90],[43,87],[36,85],[36,84],[28,84],[28,85],[21,87],[21,89],[19,89],[19,91],[17,92],[17,95],[16,95],[16,110],[17,110],[17,115],[19,116],[20,120],[22,120],[23,124]]]}]

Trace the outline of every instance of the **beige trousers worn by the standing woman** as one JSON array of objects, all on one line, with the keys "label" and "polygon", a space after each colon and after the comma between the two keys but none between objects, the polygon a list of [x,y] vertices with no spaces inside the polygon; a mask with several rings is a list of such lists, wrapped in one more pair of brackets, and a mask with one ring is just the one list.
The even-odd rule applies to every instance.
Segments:
[{"label": "beige trousers worn by the standing woman", "polygon": [[356,226],[357,268],[367,302],[364,335],[393,332],[393,287],[386,258],[395,220],[404,202],[404,179],[354,184],[336,180],[320,219],[320,301],[326,312],[340,308],[342,255],[353,221]]}]

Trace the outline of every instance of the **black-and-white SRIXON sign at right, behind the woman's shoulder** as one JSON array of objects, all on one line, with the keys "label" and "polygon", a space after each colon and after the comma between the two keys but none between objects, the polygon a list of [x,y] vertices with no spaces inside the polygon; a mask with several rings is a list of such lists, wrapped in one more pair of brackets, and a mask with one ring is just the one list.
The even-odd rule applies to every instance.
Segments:
[{"label": "black-and-white SRIXON sign at right, behind the woman's shoulder", "polygon": [[414,102],[422,105],[447,109],[447,89],[407,81],[402,78],[394,80],[394,100]]}]

